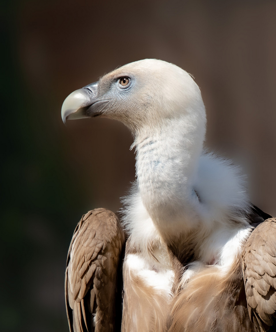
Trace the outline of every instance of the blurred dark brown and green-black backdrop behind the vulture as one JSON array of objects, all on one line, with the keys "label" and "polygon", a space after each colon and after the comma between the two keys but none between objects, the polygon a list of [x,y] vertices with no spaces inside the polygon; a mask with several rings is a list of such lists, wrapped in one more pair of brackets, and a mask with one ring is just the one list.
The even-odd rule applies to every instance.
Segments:
[{"label": "blurred dark brown and green-black backdrop behind the vulture", "polygon": [[1,331],[68,331],[63,279],[81,215],[117,211],[135,180],[132,137],[106,119],[61,121],[73,90],[128,62],[192,73],[206,145],[248,174],[276,215],[276,2],[1,3]]}]

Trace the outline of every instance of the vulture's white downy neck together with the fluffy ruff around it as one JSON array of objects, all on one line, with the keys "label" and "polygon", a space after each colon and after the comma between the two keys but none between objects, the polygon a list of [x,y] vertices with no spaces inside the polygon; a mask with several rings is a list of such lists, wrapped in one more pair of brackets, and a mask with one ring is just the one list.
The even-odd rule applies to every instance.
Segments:
[{"label": "vulture's white downy neck together with the fluffy ruff around it", "polygon": [[244,178],[229,161],[205,153],[192,139],[200,135],[183,125],[171,121],[135,140],[137,183],[124,200],[124,225],[141,250],[178,236],[185,243],[193,234],[197,259],[229,265],[249,235]]}]

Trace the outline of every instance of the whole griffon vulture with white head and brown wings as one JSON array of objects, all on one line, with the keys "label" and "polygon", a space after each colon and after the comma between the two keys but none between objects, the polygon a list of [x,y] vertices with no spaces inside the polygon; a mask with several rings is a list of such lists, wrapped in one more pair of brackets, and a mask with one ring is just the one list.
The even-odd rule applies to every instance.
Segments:
[{"label": "whole griffon vulture with white head and brown wings", "polygon": [[75,230],[70,331],[269,330],[276,219],[250,204],[239,168],[203,150],[206,115],[193,78],[161,60],[129,63],[63,103],[64,122],[96,116],[133,133],[137,181],[123,201],[125,252],[108,210],[88,212]]}]

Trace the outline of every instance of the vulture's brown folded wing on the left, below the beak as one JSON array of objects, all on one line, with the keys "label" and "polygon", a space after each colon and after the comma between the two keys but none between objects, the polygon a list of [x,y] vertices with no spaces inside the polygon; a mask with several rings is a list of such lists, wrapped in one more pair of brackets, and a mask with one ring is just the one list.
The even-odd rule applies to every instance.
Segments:
[{"label": "vulture's brown folded wing on the left, below the beak", "polygon": [[115,331],[116,311],[121,309],[121,303],[116,304],[115,298],[119,291],[118,273],[121,273],[120,256],[124,243],[119,219],[107,209],[89,211],[78,223],[65,273],[66,310],[71,332]]}]

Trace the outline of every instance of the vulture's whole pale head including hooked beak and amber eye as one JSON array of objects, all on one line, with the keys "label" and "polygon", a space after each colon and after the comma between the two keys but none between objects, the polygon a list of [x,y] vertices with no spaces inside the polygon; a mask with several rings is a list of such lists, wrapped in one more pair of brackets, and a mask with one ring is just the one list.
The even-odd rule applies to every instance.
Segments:
[{"label": "vulture's whole pale head including hooked beak and amber eye", "polygon": [[72,92],[61,114],[63,122],[97,116],[119,120],[136,135],[182,117],[193,121],[194,129],[201,127],[204,135],[206,122],[201,93],[192,77],[156,59],[126,64]]}]

